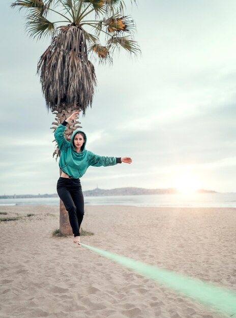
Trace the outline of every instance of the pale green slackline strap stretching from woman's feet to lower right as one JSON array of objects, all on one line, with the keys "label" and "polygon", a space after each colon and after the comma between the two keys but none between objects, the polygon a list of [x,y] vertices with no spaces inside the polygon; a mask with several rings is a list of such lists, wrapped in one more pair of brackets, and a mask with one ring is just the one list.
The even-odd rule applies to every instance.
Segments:
[{"label": "pale green slackline strap stretching from woman's feet to lower right", "polygon": [[[112,261],[128,267],[137,274],[154,279],[166,287],[188,296],[208,307],[220,310],[233,316],[236,313],[236,292],[219,287],[213,283],[206,283],[197,278],[188,277],[171,270],[135,261],[125,256],[117,255],[97,247],[80,243]],[[235,315],[236,316],[236,315]]]}]

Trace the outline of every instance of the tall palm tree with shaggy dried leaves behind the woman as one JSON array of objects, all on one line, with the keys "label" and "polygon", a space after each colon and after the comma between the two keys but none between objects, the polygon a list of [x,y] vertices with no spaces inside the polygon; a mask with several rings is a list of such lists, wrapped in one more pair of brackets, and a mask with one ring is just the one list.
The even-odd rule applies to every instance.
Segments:
[{"label": "tall palm tree with shaggy dried leaves behind the woman", "polygon": [[[39,59],[37,72],[47,110],[55,114],[53,131],[71,113],[81,110],[85,115],[87,107],[92,106],[97,81],[88,56],[100,63],[112,63],[115,50],[140,52],[133,40],[135,23],[131,16],[125,15],[123,0],[17,0],[11,7],[26,10],[30,37],[38,40],[51,37],[51,44]],[[81,127],[79,124],[77,121],[68,126],[68,140],[73,130]],[[56,159],[60,155],[57,145],[54,155]],[[60,212],[61,232],[71,233],[62,202]]]}]

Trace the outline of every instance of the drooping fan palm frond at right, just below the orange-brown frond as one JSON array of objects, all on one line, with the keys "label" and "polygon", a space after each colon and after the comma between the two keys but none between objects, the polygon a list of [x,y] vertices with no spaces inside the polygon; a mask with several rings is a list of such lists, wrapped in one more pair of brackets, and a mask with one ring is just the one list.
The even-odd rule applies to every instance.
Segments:
[{"label": "drooping fan palm frond at right, just below the orange-brown frond", "polygon": [[111,37],[107,41],[107,46],[113,49],[115,48],[120,49],[121,47],[123,47],[126,51],[130,53],[134,53],[134,54],[141,52],[137,42],[134,40],[131,40],[129,36]]}]

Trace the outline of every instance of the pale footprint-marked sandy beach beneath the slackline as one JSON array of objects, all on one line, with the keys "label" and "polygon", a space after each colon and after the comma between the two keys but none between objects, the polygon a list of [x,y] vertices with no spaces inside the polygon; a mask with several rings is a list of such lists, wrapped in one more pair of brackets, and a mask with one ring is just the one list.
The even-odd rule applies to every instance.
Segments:
[{"label": "pale footprint-marked sandy beach beneath the slackline", "polygon": [[[0,222],[1,317],[225,317],[74,244],[72,236],[52,236],[56,206],[0,212],[23,216]],[[81,242],[236,291],[235,224],[236,208],[87,206],[82,228],[94,235]]]}]

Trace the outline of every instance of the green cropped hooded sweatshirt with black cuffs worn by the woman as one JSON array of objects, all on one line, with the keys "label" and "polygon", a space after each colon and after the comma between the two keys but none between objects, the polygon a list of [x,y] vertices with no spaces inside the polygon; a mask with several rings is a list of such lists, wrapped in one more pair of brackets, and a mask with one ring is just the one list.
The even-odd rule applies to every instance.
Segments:
[{"label": "green cropped hooded sweatshirt with black cuffs worn by the woman", "polygon": [[[78,129],[73,132],[70,142],[66,140],[64,137],[66,124],[67,122],[64,121],[62,124],[58,125],[57,129],[55,130],[54,137],[57,141],[59,149],[61,150],[59,167],[69,177],[75,179],[82,177],[89,166],[106,167],[121,163],[121,158],[100,156],[86,150],[86,134]],[[77,133],[83,133],[85,136],[85,141],[81,147],[81,152],[77,152],[73,144],[74,137]]]}]

